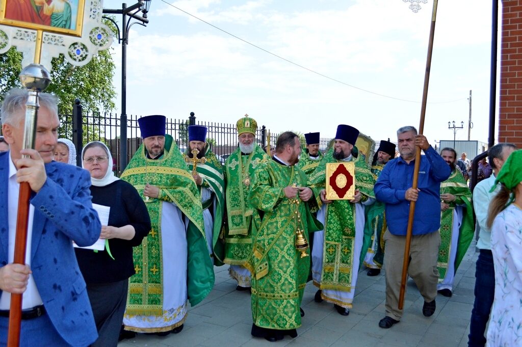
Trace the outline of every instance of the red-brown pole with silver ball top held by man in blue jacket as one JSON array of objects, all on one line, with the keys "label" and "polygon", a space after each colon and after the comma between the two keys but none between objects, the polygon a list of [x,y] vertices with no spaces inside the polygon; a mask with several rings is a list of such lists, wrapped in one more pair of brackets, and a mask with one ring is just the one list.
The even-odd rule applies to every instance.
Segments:
[{"label": "red-brown pole with silver ball top held by man in blue jacket", "polygon": [[[22,86],[29,90],[26,103],[26,116],[23,124],[23,149],[34,149],[36,124],[38,117],[39,93],[44,90],[51,78],[49,72],[38,64],[30,64],[20,73]],[[29,221],[29,198],[31,188],[29,183],[20,183],[18,195],[18,216],[16,220],[14,264],[26,263],[27,227]],[[9,306],[9,328],[7,332],[7,347],[18,347],[20,344],[20,327],[22,318],[22,294],[11,293]]]}]

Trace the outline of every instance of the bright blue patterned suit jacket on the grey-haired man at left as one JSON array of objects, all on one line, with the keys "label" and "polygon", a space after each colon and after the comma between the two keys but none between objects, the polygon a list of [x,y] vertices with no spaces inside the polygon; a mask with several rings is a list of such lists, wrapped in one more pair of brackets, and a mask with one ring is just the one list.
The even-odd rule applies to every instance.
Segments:
[{"label": "bright blue patterned suit jacket on the grey-haired man at left", "polygon": [[[0,153],[0,266],[8,260],[9,160],[9,152]],[[73,346],[86,346],[98,333],[71,240],[88,246],[100,236],[100,221],[91,204],[91,180],[86,170],[54,161],[45,164],[45,171],[47,180],[30,199],[34,206],[31,270],[58,333]],[[0,331],[0,336],[6,333]]]}]

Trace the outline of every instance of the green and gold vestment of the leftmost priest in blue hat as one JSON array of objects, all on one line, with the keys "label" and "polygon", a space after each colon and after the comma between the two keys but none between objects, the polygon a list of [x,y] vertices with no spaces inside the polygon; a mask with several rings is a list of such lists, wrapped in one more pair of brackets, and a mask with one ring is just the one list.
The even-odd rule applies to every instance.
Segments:
[{"label": "green and gold vestment of the leftmost priest in blue hat", "polygon": [[[205,240],[201,198],[172,136],[165,135],[165,152],[158,160],[146,157],[142,143],[120,178],[132,184],[141,194],[151,221],[151,231],[141,245],[133,249],[136,274],[129,281],[127,314],[162,315],[163,261],[159,256],[162,249],[162,201],[174,202],[189,220],[186,231],[187,295],[191,305],[198,304],[212,290],[214,271]],[[147,200],[143,196],[147,183],[160,188],[157,199]]]}]

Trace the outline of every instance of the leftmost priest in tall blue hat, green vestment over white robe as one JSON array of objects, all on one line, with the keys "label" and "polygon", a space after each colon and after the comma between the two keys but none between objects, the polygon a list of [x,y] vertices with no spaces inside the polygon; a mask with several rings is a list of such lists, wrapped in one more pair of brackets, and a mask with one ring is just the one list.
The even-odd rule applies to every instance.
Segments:
[{"label": "leftmost priest in tall blue hat, green vestment over white robe", "polygon": [[[165,116],[138,119],[143,143],[122,173],[143,197],[151,230],[133,257],[123,323],[126,330],[180,332],[192,306],[212,290],[214,272],[205,240],[201,197]],[[186,224],[184,221],[188,221]]]}]

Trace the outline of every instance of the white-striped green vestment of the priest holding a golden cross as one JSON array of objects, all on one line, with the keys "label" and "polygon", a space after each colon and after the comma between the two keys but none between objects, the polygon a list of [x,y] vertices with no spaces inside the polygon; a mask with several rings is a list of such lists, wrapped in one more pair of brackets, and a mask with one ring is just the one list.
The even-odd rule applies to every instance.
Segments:
[{"label": "white-striped green vestment of the priest holding a golden cross", "polygon": [[[187,150],[188,152],[188,150]],[[224,241],[220,238],[221,226],[223,224],[223,212],[225,209],[224,194],[225,194],[225,181],[223,175],[223,167],[219,162],[216,154],[214,154],[207,142],[204,157],[206,162],[204,164],[198,163],[196,171],[203,180],[203,186],[206,188],[212,188],[213,198],[203,202],[203,210],[210,209],[210,213],[213,218],[213,230],[212,230],[212,248],[214,255],[214,264],[216,266],[223,265],[224,258]],[[187,170],[192,172],[193,161],[188,158]],[[201,187],[198,186],[200,190]]]}]

